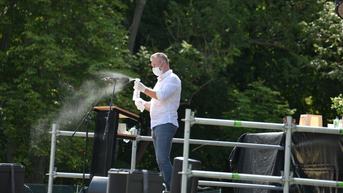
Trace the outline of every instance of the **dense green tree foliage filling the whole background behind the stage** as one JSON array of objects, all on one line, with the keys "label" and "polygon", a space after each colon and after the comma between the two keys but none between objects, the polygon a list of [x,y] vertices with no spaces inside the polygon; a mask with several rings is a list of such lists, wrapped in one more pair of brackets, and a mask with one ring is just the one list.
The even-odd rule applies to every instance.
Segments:
[{"label": "dense green tree foliage filling the whole background behind the stage", "polygon": [[[332,11],[334,2],[147,1],[132,56],[126,44],[136,1],[0,5],[0,162],[24,164],[29,180],[47,182],[51,124],[74,131],[107,87],[97,83],[100,78],[120,72],[154,87],[150,55],[155,52],[168,55],[182,82],[177,138],[183,138],[180,119],[187,108],[197,117],[271,123],[286,115],[321,114],[325,125],[334,117],[329,99],[341,93],[343,77],[343,21]],[[139,114],[139,122],[129,125],[147,135],[149,113],[133,104],[132,86],[116,87],[115,105]],[[112,89],[98,106],[108,105]],[[237,141],[246,132],[266,131],[194,125],[191,138]],[[84,144],[83,138],[58,138],[58,171],[82,172]],[[88,145],[91,152],[92,139]],[[182,156],[181,144],[172,148],[172,158]],[[204,170],[229,170],[231,148],[190,148],[191,158],[206,160]],[[116,166],[129,166],[131,144],[119,143],[118,149]],[[6,157],[7,152],[13,154]],[[41,162],[44,171],[33,175]],[[152,143],[138,168],[158,170]]]}]

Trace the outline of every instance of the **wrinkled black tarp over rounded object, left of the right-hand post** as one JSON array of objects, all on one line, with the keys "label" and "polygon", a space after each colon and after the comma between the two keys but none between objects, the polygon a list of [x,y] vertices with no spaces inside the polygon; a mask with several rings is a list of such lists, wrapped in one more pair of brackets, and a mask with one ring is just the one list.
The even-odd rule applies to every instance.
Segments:
[{"label": "wrinkled black tarp over rounded object, left of the right-hand post", "polygon": [[[244,134],[238,139],[238,143],[250,144],[268,144],[284,146],[285,136],[283,132],[277,133],[258,133]],[[230,154],[230,169],[233,173],[258,174],[258,175],[274,175],[281,176],[281,170],[284,168],[284,151],[259,148],[240,148],[235,147]],[[259,181],[241,181],[233,180],[235,183],[249,183],[257,185],[275,185],[277,183],[259,182]],[[234,188],[235,192],[251,193],[276,193],[279,191]]]}]

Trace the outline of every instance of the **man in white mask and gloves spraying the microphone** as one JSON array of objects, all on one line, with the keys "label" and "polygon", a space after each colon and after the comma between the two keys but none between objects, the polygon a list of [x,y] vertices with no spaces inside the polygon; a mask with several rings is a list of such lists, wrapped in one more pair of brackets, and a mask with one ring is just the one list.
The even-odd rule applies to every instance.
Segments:
[{"label": "man in white mask and gloves spraying the microphone", "polygon": [[155,53],[150,57],[153,73],[158,76],[154,89],[147,88],[139,81],[134,82],[134,89],[150,96],[150,102],[135,101],[138,109],[150,111],[152,139],[155,147],[156,159],[159,170],[164,176],[164,181],[169,190],[171,181],[171,165],[169,154],[171,140],[179,124],[177,122],[177,109],[180,104],[181,81],[169,68],[167,55]]}]

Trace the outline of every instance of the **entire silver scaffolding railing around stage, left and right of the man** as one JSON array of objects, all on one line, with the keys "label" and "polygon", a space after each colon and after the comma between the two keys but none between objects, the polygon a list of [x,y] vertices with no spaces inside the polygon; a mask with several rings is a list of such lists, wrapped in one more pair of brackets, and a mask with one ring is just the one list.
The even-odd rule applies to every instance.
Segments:
[{"label": "entire silver scaffolding railing around stage, left and right of the man", "polygon": [[[289,118],[289,117],[287,117]],[[329,180],[316,180],[316,179],[303,179],[303,178],[293,178],[289,174],[290,167],[290,138],[292,132],[315,132],[315,133],[328,133],[328,134],[343,134],[342,129],[332,129],[327,127],[310,127],[310,126],[299,126],[292,124],[292,119],[284,121],[283,124],[277,123],[262,123],[262,122],[249,122],[249,121],[234,121],[234,120],[219,120],[219,119],[209,119],[209,118],[195,118],[191,115],[190,110],[186,110],[186,117],[182,119],[185,121],[185,139],[173,138],[173,143],[183,143],[184,144],[184,163],[182,164],[182,184],[181,193],[185,193],[187,187],[188,177],[201,177],[201,178],[221,178],[221,179],[239,179],[242,181],[263,181],[263,182],[274,182],[280,183],[282,186],[272,186],[272,185],[258,185],[258,184],[245,184],[245,183],[231,183],[231,182],[216,182],[216,181],[202,181],[199,180],[199,185],[213,185],[213,186],[223,186],[223,187],[237,187],[237,188],[253,188],[253,189],[265,189],[265,190],[277,190],[284,192],[289,191],[289,185],[291,184],[303,184],[303,185],[320,185],[328,187],[343,187],[343,182],[340,181],[329,181]],[[231,127],[249,127],[249,128],[263,128],[263,129],[276,129],[286,131],[286,144],[285,146],[268,145],[268,144],[249,144],[249,143],[235,143],[228,141],[213,141],[213,140],[199,140],[199,139],[189,139],[190,126],[193,124],[204,124],[204,125],[219,125],[219,126],[231,126]],[[55,130],[54,130],[55,129]],[[52,180],[50,178],[63,177],[63,178],[89,178],[90,174],[82,173],[64,173],[56,172],[54,168],[55,159],[55,148],[56,148],[56,136],[72,136],[74,132],[60,131],[57,129],[56,124],[53,125],[51,138],[51,153],[50,153],[50,171],[49,171],[49,188],[48,192],[52,187]],[[55,135],[55,136],[54,136]],[[137,135],[137,129],[135,130],[135,135]],[[86,137],[85,132],[76,132],[74,136]],[[94,137],[94,133],[88,133],[88,137]],[[132,157],[131,157],[131,170],[135,169],[135,158],[137,150],[137,141],[152,141],[151,136],[137,136],[137,140],[132,143]],[[285,168],[284,175],[279,176],[267,176],[267,175],[256,175],[256,174],[238,174],[238,173],[226,173],[226,172],[211,172],[211,171],[198,171],[189,170],[186,167],[188,164],[185,160],[188,160],[189,154],[189,144],[197,145],[212,145],[212,146],[227,146],[227,147],[243,147],[243,148],[260,148],[260,149],[274,149],[274,150],[284,150],[285,151]],[[188,152],[187,152],[188,151]],[[187,157],[187,159],[186,159]],[[52,168],[52,169],[51,169]],[[288,169],[287,169],[288,168]],[[288,174],[287,174],[288,173]],[[185,178],[185,179],[184,179]],[[50,187],[51,181],[51,187]],[[287,186],[287,187],[285,187]],[[52,189],[51,189],[52,190]],[[50,192],[49,192],[50,193]]]}]

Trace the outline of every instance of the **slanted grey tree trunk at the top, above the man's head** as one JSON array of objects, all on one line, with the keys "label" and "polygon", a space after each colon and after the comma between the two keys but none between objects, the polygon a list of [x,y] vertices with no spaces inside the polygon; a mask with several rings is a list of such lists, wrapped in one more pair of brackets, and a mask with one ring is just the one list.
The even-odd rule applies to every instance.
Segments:
[{"label": "slanted grey tree trunk at the top, above the man's head", "polygon": [[132,25],[130,26],[130,29],[129,29],[130,30],[130,38],[129,38],[128,48],[129,48],[131,54],[133,53],[133,46],[134,46],[134,42],[136,40],[138,27],[139,27],[139,24],[141,22],[141,17],[143,14],[143,9],[144,9],[145,3],[146,3],[146,0],[138,0],[137,1],[136,9],[135,9],[134,15],[133,15]]}]

